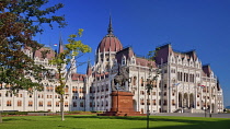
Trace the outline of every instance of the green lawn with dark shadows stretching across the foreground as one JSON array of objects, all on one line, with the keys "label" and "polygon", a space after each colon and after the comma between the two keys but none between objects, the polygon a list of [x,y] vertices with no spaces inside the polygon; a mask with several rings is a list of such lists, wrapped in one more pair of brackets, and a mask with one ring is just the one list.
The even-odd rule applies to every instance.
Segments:
[{"label": "green lawn with dark shadows stretching across the foreground", "polygon": [[[228,118],[151,116],[151,129],[230,129]],[[71,115],[3,117],[0,129],[146,129],[146,117]]]}]

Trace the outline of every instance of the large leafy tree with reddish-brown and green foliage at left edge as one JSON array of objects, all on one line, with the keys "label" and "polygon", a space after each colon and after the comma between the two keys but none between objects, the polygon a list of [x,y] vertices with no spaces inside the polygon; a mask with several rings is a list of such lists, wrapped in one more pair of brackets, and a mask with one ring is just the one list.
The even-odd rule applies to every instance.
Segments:
[{"label": "large leafy tree with reddish-brown and green foliage at left edge", "polygon": [[[43,33],[43,24],[66,25],[64,16],[51,15],[64,7],[62,3],[42,9],[48,0],[1,0],[0,1],[0,85],[10,85],[9,91],[41,90],[42,66],[22,48],[30,47],[33,56],[43,45],[33,40],[33,36]],[[26,75],[31,74],[34,80]]]}]

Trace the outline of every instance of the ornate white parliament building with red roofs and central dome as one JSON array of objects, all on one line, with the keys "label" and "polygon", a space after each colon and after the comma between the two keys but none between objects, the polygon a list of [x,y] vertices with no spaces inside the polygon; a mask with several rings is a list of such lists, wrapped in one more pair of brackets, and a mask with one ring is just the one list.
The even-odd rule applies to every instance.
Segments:
[{"label": "ornate white parliament building with red roofs and central dome", "polygon": [[[42,50],[50,49],[44,58]],[[59,40],[58,50],[65,49]],[[30,49],[22,49],[33,58]],[[95,50],[93,66],[89,62],[85,74],[77,72],[76,61],[71,61],[71,72],[65,87],[65,112],[106,112],[112,107],[112,82],[118,67],[128,68],[127,90],[133,93],[133,106],[136,112],[147,113],[222,113],[223,94],[218,78],[209,64],[203,64],[195,50],[179,52],[171,44],[156,48],[154,61],[138,57],[131,47],[123,47],[114,35],[110,20],[107,34]],[[55,50],[44,47],[35,52],[35,63],[56,71],[49,60]],[[149,73],[149,63],[153,70]],[[147,80],[160,74],[150,93],[147,93]],[[67,70],[64,70],[64,72]],[[151,74],[151,75],[150,75]],[[55,79],[54,79],[55,80]],[[21,90],[11,94],[8,85],[0,85],[0,110],[19,112],[60,112],[60,96],[55,92],[58,80],[42,81],[44,91],[30,93]]]}]

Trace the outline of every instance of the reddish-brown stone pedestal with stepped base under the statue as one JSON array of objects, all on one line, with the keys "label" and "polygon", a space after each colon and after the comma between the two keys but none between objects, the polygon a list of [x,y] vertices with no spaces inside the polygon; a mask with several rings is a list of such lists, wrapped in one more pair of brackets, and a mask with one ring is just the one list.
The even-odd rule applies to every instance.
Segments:
[{"label": "reddish-brown stone pedestal with stepped base under the statue", "polygon": [[112,108],[100,116],[143,116],[140,112],[134,110],[133,96],[130,92],[112,92]]}]

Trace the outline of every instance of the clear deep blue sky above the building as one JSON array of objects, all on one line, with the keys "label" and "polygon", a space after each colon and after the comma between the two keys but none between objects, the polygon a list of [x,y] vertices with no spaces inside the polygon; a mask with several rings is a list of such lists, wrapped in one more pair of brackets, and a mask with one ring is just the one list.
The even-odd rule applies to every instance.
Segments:
[{"label": "clear deep blue sky above the building", "polygon": [[[65,4],[56,15],[65,15],[68,26],[50,30],[35,38],[53,46],[61,36],[83,28],[81,39],[92,52],[79,61],[91,60],[107,34],[110,15],[115,36],[136,55],[146,56],[170,43],[177,51],[196,50],[203,64],[210,64],[223,90],[225,106],[230,105],[230,0],[50,0],[46,7]],[[55,24],[54,24],[55,26]],[[78,72],[85,73],[87,64]]]}]

